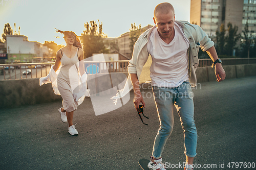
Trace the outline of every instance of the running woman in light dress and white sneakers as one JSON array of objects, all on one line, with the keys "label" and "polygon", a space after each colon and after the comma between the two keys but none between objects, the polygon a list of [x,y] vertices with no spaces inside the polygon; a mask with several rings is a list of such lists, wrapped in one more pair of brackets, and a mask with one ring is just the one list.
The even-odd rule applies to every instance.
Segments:
[{"label": "running woman in light dress and white sneakers", "polygon": [[63,99],[63,107],[58,109],[61,120],[63,123],[68,122],[71,135],[78,135],[73,125],[74,111],[85,96],[90,96],[86,84],[87,75],[83,66],[82,45],[74,32],[60,30],[56,32],[64,34],[63,38],[67,45],[57,51],[55,64],[47,77],[40,78],[40,85],[52,83],[55,94],[60,94]]}]

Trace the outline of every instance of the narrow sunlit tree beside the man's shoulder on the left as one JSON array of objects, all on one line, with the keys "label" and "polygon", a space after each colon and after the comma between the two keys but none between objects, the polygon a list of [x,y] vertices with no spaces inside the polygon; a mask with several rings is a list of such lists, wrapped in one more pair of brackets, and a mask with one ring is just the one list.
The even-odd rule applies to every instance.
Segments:
[{"label": "narrow sunlit tree beside the man's shoulder on the left", "polygon": [[135,25],[135,23],[131,24],[131,28],[130,28],[130,50],[131,50],[131,55],[133,54],[133,47],[135,42],[137,41],[137,39],[139,38],[139,36],[141,35],[142,30],[141,30],[141,25],[139,25],[139,27],[137,27]]}]

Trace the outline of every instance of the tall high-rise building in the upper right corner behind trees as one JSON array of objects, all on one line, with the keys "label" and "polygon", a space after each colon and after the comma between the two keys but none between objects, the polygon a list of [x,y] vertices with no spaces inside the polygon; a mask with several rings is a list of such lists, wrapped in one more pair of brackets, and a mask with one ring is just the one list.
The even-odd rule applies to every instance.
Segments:
[{"label": "tall high-rise building in the upper right corner behind trees", "polygon": [[190,23],[199,25],[215,37],[222,23],[230,22],[242,34],[248,21],[249,31],[256,32],[256,0],[191,0]]}]

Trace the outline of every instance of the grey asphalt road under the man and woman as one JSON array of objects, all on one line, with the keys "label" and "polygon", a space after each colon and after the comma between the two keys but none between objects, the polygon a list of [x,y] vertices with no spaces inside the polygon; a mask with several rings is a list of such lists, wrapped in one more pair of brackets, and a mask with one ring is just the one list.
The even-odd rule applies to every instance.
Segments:
[{"label": "grey asphalt road under the man and woman", "polygon": [[[236,162],[254,162],[247,169],[255,169],[256,77],[205,82],[193,91],[198,131],[194,163],[201,169],[240,169],[244,163],[236,168]],[[144,92],[148,97],[152,93]],[[159,120],[153,98],[145,98],[144,113],[150,119],[143,125],[130,94],[127,104],[99,116],[87,98],[74,114],[78,136],[69,135],[68,124],[61,122],[61,102],[1,109],[0,169],[140,169],[137,161],[150,158]],[[177,111],[174,116],[162,157],[177,167],[185,156]]]}]

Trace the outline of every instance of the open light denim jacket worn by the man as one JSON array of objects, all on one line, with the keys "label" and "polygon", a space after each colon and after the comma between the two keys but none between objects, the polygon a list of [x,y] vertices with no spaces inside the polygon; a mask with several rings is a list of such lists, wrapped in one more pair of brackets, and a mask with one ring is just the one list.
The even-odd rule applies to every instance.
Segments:
[{"label": "open light denim jacket worn by the man", "polygon": [[[199,27],[198,25],[192,25],[187,21],[175,21],[183,30],[184,35],[189,40],[189,48],[187,50],[188,54],[188,72],[189,81],[192,86],[196,86],[196,69],[199,64],[198,52],[199,47],[202,51],[208,50],[211,46],[214,46],[214,42],[208,37],[208,35]],[[152,59],[148,60],[148,52],[146,43],[152,33],[153,29],[150,28],[146,30],[138,38],[134,45],[133,57],[129,61],[128,72],[129,74],[137,74],[140,83],[145,83],[151,81],[150,79],[150,69],[148,65],[151,65]],[[148,60],[147,67],[143,67]],[[141,74],[143,69],[143,74]],[[142,76],[142,77],[141,77]]]}]

